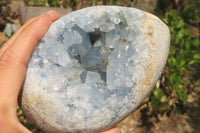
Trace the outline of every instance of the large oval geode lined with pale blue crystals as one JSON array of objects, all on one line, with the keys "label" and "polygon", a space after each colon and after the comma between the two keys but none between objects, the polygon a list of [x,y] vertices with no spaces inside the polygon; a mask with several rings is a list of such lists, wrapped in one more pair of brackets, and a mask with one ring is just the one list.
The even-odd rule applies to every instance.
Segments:
[{"label": "large oval geode lined with pale blue crystals", "polygon": [[49,28],[28,65],[22,110],[47,132],[108,129],[136,109],[166,63],[168,27],[127,7],[96,6]]}]

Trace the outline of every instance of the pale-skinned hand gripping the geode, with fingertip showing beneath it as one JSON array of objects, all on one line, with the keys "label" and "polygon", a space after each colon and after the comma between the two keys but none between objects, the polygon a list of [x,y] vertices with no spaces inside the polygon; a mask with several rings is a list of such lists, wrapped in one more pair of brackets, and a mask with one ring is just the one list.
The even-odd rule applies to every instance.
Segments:
[{"label": "pale-skinned hand gripping the geode, with fingertip showing beneath it", "polygon": [[[18,121],[18,94],[35,46],[58,18],[56,11],[50,11],[29,19],[0,48],[0,133],[31,133]],[[120,133],[120,129],[114,127],[102,133]]]}]

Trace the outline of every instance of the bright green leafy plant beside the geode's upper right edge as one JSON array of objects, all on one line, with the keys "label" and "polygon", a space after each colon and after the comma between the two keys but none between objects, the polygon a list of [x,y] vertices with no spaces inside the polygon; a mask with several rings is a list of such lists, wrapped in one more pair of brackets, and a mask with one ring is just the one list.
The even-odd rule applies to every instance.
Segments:
[{"label": "bright green leafy plant beside the geode's upper right edge", "polygon": [[176,10],[167,13],[164,21],[171,32],[168,69],[171,73],[180,75],[199,61],[200,41],[191,37],[190,31]]}]

